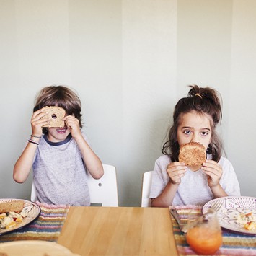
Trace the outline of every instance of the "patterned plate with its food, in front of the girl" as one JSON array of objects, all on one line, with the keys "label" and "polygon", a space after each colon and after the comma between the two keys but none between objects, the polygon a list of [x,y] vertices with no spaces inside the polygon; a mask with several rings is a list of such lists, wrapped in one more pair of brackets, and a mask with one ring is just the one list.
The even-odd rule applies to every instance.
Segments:
[{"label": "patterned plate with its food, in front of the girl", "polygon": [[221,201],[221,208],[217,212],[221,227],[242,234],[256,235],[256,198],[248,196],[216,198],[203,206],[203,214],[216,201]]}]

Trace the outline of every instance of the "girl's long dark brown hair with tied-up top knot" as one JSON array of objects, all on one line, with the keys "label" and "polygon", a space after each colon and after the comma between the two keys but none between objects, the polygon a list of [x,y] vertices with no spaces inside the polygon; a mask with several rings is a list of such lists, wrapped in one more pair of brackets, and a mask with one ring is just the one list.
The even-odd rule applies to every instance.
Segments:
[{"label": "girl's long dark brown hair with tied-up top knot", "polygon": [[195,111],[199,114],[211,116],[211,144],[208,146],[207,153],[212,154],[212,159],[219,162],[222,154],[222,143],[216,133],[216,125],[221,122],[221,95],[210,87],[198,87],[190,85],[187,97],[180,99],[175,105],[173,113],[173,125],[169,129],[168,140],[164,143],[162,153],[169,156],[172,162],[178,162],[180,146],[177,142],[177,128],[180,125],[182,114]]}]

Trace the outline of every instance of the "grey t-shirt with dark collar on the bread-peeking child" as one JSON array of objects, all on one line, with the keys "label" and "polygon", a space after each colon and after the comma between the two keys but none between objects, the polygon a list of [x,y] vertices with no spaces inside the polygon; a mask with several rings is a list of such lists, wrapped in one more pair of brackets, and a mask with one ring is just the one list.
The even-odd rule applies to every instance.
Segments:
[{"label": "grey t-shirt with dark collar on the bread-peeking child", "polygon": [[[87,141],[87,137],[82,133]],[[89,144],[89,143],[88,143]],[[71,134],[65,141],[53,143],[40,139],[32,164],[37,199],[48,204],[89,206],[86,167],[81,151]]]}]

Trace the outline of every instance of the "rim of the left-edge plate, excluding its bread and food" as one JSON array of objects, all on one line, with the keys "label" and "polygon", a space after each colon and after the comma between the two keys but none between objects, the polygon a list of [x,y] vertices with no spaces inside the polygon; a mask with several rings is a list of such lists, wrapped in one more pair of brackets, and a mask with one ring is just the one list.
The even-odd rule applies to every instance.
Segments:
[{"label": "rim of the left-edge plate, excluding its bread and food", "polygon": [[40,215],[40,212],[41,212],[40,206],[38,206],[36,203],[33,203],[29,200],[4,198],[4,199],[0,199],[0,203],[9,202],[9,201],[13,201],[13,200],[22,200],[22,201],[24,201],[24,207],[32,206],[32,208],[27,213],[27,216],[25,217],[25,219],[22,221],[21,224],[17,224],[16,226],[13,226],[10,229],[0,229],[0,236],[2,234],[9,233],[10,231],[14,231],[14,230],[17,230],[17,229],[22,229],[22,227],[27,226],[27,224],[30,224],[30,222],[37,219],[37,217]]}]

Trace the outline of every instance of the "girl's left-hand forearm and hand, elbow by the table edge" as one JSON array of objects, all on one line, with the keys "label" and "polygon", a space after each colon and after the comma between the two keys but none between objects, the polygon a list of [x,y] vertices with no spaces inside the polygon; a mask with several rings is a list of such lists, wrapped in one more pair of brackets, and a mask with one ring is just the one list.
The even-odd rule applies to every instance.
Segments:
[{"label": "girl's left-hand forearm and hand, elbow by the table edge", "polygon": [[164,187],[164,190],[157,198],[151,199],[151,206],[153,207],[168,207],[172,206],[173,198],[180,185],[181,178],[185,175],[186,166],[182,162],[173,162],[167,166],[167,174],[169,175],[169,182]]}]

